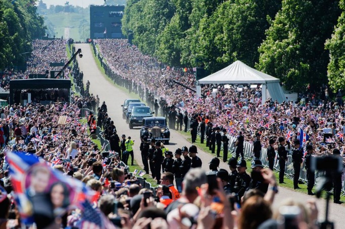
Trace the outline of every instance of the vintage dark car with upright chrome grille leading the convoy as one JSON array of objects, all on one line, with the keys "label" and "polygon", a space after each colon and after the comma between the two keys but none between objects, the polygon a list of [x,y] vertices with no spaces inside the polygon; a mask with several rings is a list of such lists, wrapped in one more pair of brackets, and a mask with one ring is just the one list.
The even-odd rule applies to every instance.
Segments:
[{"label": "vintage dark car with upright chrome grille leading the convoy", "polygon": [[147,136],[147,140],[155,138],[169,144],[170,131],[167,126],[167,120],[164,117],[147,117],[142,119],[140,136]]}]

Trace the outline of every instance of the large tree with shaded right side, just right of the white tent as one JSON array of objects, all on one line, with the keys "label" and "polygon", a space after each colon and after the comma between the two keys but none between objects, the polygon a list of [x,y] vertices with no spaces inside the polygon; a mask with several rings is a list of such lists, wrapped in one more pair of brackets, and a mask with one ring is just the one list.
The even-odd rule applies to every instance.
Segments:
[{"label": "large tree with shaded right side, just right of the white tent", "polygon": [[293,91],[327,83],[329,52],[325,41],[340,15],[337,1],[283,0],[270,21],[256,65]]}]

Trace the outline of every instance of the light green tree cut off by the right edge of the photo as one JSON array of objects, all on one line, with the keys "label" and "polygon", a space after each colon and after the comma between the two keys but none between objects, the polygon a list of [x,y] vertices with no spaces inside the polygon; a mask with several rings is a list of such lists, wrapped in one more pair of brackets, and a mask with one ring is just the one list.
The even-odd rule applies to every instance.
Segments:
[{"label": "light green tree cut off by the right edge of the photo", "polygon": [[345,89],[345,1],[339,2],[342,10],[338,19],[338,24],[334,29],[332,38],[326,41],[326,49],[330,53],[330,61],[328,63],[328,80],[333,90]]}]

